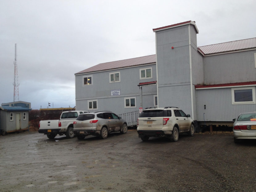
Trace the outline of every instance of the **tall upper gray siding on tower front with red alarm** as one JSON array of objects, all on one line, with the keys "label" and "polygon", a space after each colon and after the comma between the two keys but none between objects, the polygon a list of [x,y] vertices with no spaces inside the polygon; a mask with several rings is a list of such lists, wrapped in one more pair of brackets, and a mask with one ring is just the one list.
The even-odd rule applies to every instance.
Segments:
[{"label": "tall upper gray siding on tower front with red alarm", "polygon": [[188,26],[156,32],[156,45],[158,84],[190,81]]}]

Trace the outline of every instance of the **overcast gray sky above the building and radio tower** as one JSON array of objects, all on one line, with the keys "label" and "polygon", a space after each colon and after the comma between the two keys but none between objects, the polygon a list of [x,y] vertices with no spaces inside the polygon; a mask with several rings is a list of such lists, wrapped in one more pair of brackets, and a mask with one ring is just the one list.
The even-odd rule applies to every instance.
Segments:
[{"label": "overcast gray sky above the building and radio tower", "polygon": [[[255,0],[0,0],[0,104],[75,106],[76,72],[155,54],[153,28],[195,21],[197,46],[256,37]],[[51,104],[52,108],[52,104]]]}]

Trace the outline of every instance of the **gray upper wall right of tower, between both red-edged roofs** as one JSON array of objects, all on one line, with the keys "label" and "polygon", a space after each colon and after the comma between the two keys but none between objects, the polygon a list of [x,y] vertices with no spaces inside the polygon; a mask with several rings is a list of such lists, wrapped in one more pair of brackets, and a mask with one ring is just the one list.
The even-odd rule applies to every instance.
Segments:
[{"label": "gray upper wall right of tower, between both red-edged roofs", "polygon": [[204,57],[204,84],[256,81],[255,51]]}]

